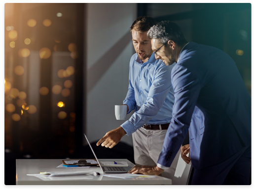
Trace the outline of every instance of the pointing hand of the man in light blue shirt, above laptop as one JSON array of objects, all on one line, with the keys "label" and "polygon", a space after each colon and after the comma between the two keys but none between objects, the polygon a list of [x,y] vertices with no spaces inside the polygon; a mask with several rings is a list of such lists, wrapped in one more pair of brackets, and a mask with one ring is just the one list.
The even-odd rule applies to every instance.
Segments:
[{"label": "pointing hand of the man in light blue shirt, above laptop", "polygon": [[102,146],[105,146],[106,148],[113,148],[123,136],[125,136],[127,133],[124,131],[122,127],[118,127],[117,129],[114,129],[107,133],[98,143],[97,146],[99,146],[102,143]]}]

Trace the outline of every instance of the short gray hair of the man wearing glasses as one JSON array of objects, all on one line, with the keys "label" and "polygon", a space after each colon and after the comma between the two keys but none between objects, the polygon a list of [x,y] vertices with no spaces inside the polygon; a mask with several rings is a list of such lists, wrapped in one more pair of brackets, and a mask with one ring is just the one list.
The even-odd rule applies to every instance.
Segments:
[{"label": "short gray hair of the man wearing glasses", "polygon": [[181,28],[170,21],[162,21],[151,27],[147,32],[147,37],[149,39],[158,39],[161,44],[169,40],[174,41],[178,46],[187,43]]}]

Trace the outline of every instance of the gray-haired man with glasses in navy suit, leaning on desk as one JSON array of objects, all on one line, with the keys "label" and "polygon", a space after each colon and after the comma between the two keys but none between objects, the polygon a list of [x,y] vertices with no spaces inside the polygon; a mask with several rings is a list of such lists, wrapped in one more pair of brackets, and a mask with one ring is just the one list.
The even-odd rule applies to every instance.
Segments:
[{"label": "gray-haired man with glasses in navy suit, leaning on desk", "polygon": [[175,104],[158,164],[130,172],[158,175],[168,169],[189,131],[192,185],[248,185],[252,98],[235,62],[217,48],[186,43],[180,27],[169,21],[151,27],[147,36],[157,59],[177,62]]}]

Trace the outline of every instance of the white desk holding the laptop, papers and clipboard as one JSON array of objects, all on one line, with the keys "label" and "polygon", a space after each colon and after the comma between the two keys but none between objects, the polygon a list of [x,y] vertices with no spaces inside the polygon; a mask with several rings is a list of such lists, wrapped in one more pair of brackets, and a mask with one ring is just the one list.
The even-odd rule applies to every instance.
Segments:
[{"label": "white desk holding the laptop, papers and clipboard", "polygon": [[[115,160],[115,159],[113,159]],[[99,160],[99,161],[109,161]],[[128,160],[129,166],[134,166]],[[16,185],[172,185],[172,180],[157,176],[155,178],[145,179],[119,179],[104,176],[93,176],[90,173],[85,176],[61,177],[59,180],[43,181],[27,174],[37,174],[40,172],[58,172],[58,171],[96,171],[103,174],[100,167],[90,167],[89,169],[77,168],[56,168],[62,164],[62,160],[17,160],[16,161]]]}]

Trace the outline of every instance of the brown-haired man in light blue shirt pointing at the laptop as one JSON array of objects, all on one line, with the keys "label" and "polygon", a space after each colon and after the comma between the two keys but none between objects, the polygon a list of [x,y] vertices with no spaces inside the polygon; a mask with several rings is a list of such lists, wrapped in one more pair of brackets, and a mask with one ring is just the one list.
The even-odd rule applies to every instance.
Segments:
[{"label": "brown-haired man in light blue shirt pointing at the laptop", "polygon": [[[156,22],[152,18],[139,17],[131,27],[136,54],[130,61],[129,90],[123,105],[127,105],[127,113],[132,110],[135,113],[97,143],[113,148],[123,136],[132,134],[135,163],[139,165],[157,164],[174,104],[171,71],[175,64],[166,66],[155,58],[147,37],[147,31],[154,25]],[[173,179],[179,154],[162,176]]]}]

